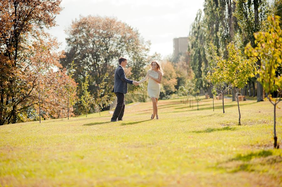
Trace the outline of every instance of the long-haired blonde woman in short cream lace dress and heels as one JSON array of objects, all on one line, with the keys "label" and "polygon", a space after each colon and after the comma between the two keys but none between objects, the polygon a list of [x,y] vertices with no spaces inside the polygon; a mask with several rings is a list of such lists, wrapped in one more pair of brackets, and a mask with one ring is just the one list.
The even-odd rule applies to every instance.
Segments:
[{"label": "long-haired blonde woman in short cream lace dress and heels", "polygon": [[145,76],[145,78],[139,81],[138,83],[140,84],[149,79],[149,83],[147,87],[148,94],[153,102],[153,114],[151,116],[151,120],[153,120],[155,116],[158,120],[159,119],[158,100],[159,100],[159,93],[160,93],[159,84],[162,80],[162,76],[164,75],[164,71],[162,70],[157,60],[154,60],[153,62],[151,62],[151,66],[152,68],[147,71],[147,75]]}]

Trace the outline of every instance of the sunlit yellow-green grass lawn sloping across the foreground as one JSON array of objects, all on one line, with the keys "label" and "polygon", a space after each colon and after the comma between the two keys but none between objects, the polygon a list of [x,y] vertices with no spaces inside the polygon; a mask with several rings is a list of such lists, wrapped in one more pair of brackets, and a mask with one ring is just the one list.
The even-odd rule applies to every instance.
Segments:
[{"label": "sunlit yellow-green grass lawn sloping across the foreground", "polygon": [[[195,101],[194,101],[195,102]],[[281,105],[280,105],[281,106]],[[126,106],[124,121],[103,111],[75,118],[0,126],[1,186],[281,186],[269,101],[180,99]]]}]

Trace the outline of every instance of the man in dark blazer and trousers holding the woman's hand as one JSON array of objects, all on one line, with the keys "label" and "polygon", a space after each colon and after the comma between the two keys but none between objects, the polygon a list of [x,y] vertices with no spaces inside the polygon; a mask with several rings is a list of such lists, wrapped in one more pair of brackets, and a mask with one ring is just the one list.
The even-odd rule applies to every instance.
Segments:
[{"label": "man in dark blazer and trousers holding the woman's hand", "polygon": [[119,66],[115,70],[115,83],[112,92],[118,97],[118,103],[116,109],[112,115],[111,121],[120,121],[123,120],[124,113],[124,94],[127,93],[127,84],[134,84],[138,86],[137,81],[132,81],[126,78],[124,68],[127,64],[127,59],[124,57],[119,57],[118,59]]}]

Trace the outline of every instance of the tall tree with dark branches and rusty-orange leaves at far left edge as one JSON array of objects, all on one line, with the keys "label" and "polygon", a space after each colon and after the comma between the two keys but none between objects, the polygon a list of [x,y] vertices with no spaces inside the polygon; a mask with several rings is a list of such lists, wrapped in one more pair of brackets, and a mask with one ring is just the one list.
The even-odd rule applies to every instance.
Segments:
[{"label": "tall tree with dark branches and rusty-orange leaves at far left edge", "polygon": [[[36,82],[31,81],[31,89],[18,76],[27,78],[33,57],[36,56],[36,42],[41,40],[43,27],[55,25],[55,16],[60,12],[61,0],[3,0],[0,3],[0,125],[22,121],[21,112],[33,106],[32,90]],[[47,37],[45,37],[46,39]],[[55,42],[48,38],[50,44]],[[36,42],[34,42],[36,41]],[[55,43],[54,43],[55,44]],[[52,49],[47,52],[52,52]],[[58,54],[54,53],[53,66]]]}]

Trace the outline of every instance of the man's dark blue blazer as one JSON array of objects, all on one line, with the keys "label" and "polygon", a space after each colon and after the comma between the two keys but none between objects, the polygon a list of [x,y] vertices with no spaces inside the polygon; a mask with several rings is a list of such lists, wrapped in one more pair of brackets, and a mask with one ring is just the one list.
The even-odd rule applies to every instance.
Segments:
[{"label": "man's dark blue blazer", "polygon": [[112,92],[126,94],[127,93],[127,83],[133,84],[133,81],[127,79],[122,66],[118,66],[115,70],[115,83],[114,83],[114,88],[112,89]]}]

